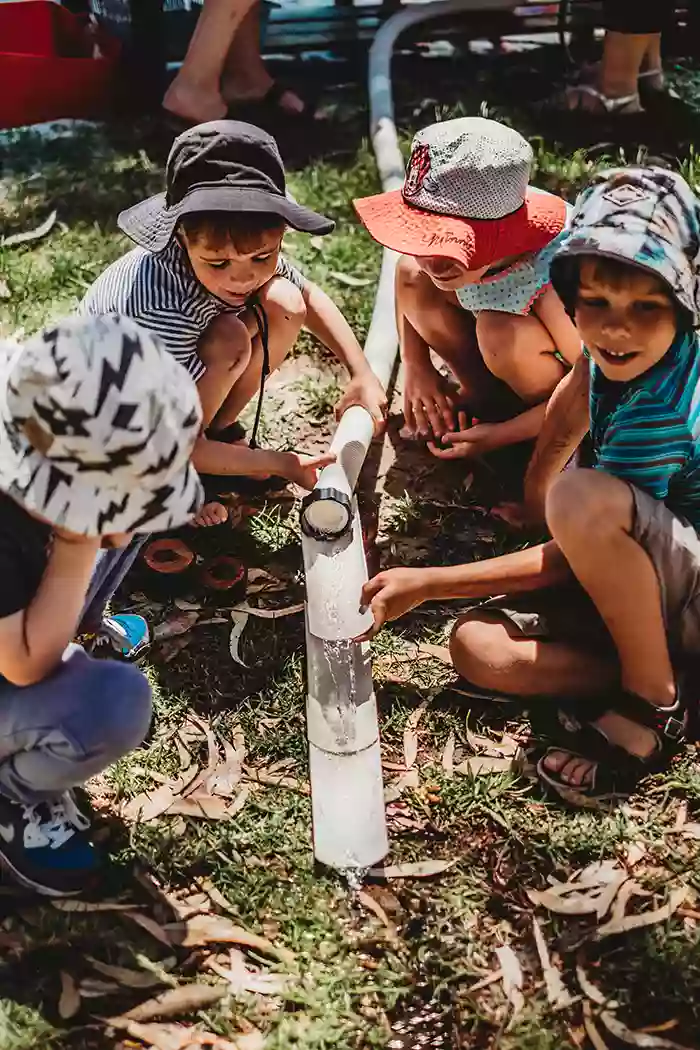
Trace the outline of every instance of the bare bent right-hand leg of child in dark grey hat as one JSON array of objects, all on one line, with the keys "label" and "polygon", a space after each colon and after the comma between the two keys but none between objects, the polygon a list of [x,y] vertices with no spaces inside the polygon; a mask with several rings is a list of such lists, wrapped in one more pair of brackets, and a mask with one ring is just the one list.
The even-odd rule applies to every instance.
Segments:
[{"label": "bare bent right-hand leg of child in dark grey hat", "polygon": [[[258,302],[268,319],[268,353],[272,373],[280,366],[296,342],[306,319],[306,306],[299,289],[285,277],[273,277],[259,294]],[[215,415],[214,428],[224,429],[235,423],[246,405],[256,396],[260,388],[262,362],[262,339],[257,332],[252,339],[247,366],[239,373],[239,378],[230,387]]]}]

